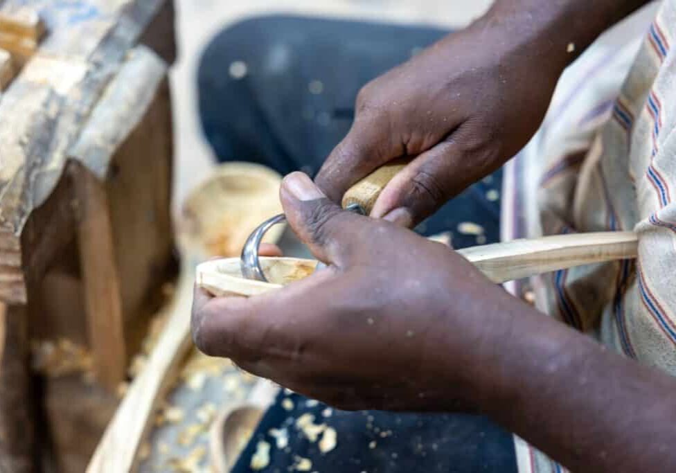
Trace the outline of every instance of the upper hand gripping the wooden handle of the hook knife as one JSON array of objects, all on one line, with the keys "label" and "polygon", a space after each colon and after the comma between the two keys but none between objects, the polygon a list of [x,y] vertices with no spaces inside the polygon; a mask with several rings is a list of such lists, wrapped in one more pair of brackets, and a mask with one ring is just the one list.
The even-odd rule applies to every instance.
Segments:
[{"label": "upper hand gripping the wooden handle of the hook knife", "polygon": [[412,226],[499,168],[539,127],[566,64],[532,30],[489,16],[366,84],[319,187],[339,202],[382,164],[415,157],[371,213]]}]

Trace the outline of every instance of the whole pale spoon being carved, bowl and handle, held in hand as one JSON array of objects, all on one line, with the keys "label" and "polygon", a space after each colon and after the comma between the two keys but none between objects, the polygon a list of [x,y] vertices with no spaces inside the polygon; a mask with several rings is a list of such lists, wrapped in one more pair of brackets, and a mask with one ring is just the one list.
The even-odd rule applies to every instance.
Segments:
[{"label": "whole pale spoon being carved, bowl and handle, held in hand", "polygon": [[[487,244],[458,251],[495,283],[595,262],[636,258],[632,232],[555,235],[533,240]],[[261,258],[272,283],[242,277],[239,258],[212,260],[197,267],[197,285],[215,296],[255,296],[312,274],[316,261]]]}]

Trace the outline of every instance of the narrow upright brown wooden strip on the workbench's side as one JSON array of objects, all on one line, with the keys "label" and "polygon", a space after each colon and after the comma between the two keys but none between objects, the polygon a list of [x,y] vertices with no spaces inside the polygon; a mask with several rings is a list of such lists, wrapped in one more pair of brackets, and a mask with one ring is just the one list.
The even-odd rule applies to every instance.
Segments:
[{"label": "narrow upright brown wooden strip on the workbench's side", "polygon": [[125,379],[125,330],[113,229],[104,183],[90,172],[75,182],[80,268],[96,377],[111,392]]}]

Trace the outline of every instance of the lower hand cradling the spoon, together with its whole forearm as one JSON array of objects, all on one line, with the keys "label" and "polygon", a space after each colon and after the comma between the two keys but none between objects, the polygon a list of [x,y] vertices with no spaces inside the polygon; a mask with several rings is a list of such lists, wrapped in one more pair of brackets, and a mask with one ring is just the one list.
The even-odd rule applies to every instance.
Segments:
[{"label": "lower hand cradling the spoon, together with its whole forearm", "polygon": [[341,211],[305,175],[281,197],[330,266],[263,296],[197,289],[199,349],[343,409],[481,411],[572,471],[676,471],[673,377],[538,314],[442,244]]}]

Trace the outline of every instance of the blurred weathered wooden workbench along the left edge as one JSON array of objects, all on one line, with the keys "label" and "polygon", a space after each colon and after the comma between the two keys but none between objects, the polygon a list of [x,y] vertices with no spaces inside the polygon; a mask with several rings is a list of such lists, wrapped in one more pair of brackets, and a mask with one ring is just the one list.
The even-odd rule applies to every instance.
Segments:
[{"label": "blurred weathered wooden workbench along the left edge", "polygon": [[30,472],[46,437],[57,456],[97,439],[45,428],[86,418],[72,405],[84,388],[37,396],[29,341],[90,350],[87,399],[112,403],[172,271],[172,3],[0,0],[0,49],[0,470]]}]

